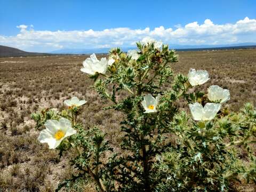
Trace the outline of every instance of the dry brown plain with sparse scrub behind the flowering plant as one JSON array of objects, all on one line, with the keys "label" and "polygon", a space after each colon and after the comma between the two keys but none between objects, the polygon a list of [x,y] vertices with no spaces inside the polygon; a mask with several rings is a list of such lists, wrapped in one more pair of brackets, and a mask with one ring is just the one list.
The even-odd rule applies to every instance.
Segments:
[{"label": "dry brown plain with sparse scrub behind the flowering plant", "polygon": [[[122,114],[102,110],[102,101],[91,87],[92,79],[80,71],[85,55],[0,58],[0,191],[54,191],[69,178],[72,169],[65,154],[49,150],[37,141],[38,131],[30,114],[42,108],[63,109],[72,96],[88,102],[78,121],[98,125],[108,133],[113,147],[121,141]],[[256,50],[179,52],[174,73],[187,74],[189,68],[209,71],[210,85],[230,90],[230,108],[238,110],[245,102],[256,103]],[[118,150],[118,148],[115,148]],[[238,191],[254,191],[255,186],[238,186]],[[74,191],[94,191],[90,182],[74,186]]]}]

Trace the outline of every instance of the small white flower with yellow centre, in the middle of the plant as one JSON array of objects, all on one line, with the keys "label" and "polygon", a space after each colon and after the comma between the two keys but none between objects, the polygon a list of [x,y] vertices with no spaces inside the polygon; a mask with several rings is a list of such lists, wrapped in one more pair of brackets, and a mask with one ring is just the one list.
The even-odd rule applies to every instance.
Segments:
[{"label": "small white flower with yellow centre, in the middle of the plant", "polygon": [[151,95],[147,94],[144,96],[144,100],[141,102],[142,106],[146,110],[144,113],[155,113],[156,107],[160,99],[160,94],[157,95],[156,99]]}]

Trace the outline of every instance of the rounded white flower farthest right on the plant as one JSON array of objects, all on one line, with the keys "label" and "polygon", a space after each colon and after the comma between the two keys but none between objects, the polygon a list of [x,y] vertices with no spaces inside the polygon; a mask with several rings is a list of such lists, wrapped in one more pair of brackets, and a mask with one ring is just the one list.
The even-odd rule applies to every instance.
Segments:
[{"label": "rounded white flower farthest right on the plant", "polygon": [[208,99],[212,102],[225,103],[230,99],[229,90],[222,89],[218,85],[212,85],[208,88]]}]

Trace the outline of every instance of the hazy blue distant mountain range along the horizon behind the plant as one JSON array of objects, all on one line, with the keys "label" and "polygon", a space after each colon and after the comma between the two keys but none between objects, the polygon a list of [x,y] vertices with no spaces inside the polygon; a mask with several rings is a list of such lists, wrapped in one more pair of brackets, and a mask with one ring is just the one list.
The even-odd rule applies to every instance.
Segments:
[{"label": "hazy blue distant mountain range along the horizon behind the plant", "polygon": [[[197,50],[215,50],[215,49],[246,49],[256,48],[256,43],[237,43],[227,45],[177,45],[170,44],[170,49],[177,51],[197,51]],[[121,47],[122,51],[136,49],[136,47]],[[61,49],[52,51],[53,54],[91,54],[91,53],[108,53],[110,48],[95,48],[95,49]]]}]

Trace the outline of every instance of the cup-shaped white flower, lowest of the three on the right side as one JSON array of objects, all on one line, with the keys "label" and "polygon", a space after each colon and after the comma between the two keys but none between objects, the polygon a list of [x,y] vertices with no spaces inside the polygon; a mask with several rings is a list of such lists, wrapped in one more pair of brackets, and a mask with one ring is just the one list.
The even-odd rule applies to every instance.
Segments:
[{"label": "cup-shaped white flower, lowest of the three on the right side", "polygon": [[220,110],[221,104],[219,103],[206,103],[203,107],[200,103],[189,104],[192,117],[195,121],[207,121],[215,117]]}]

